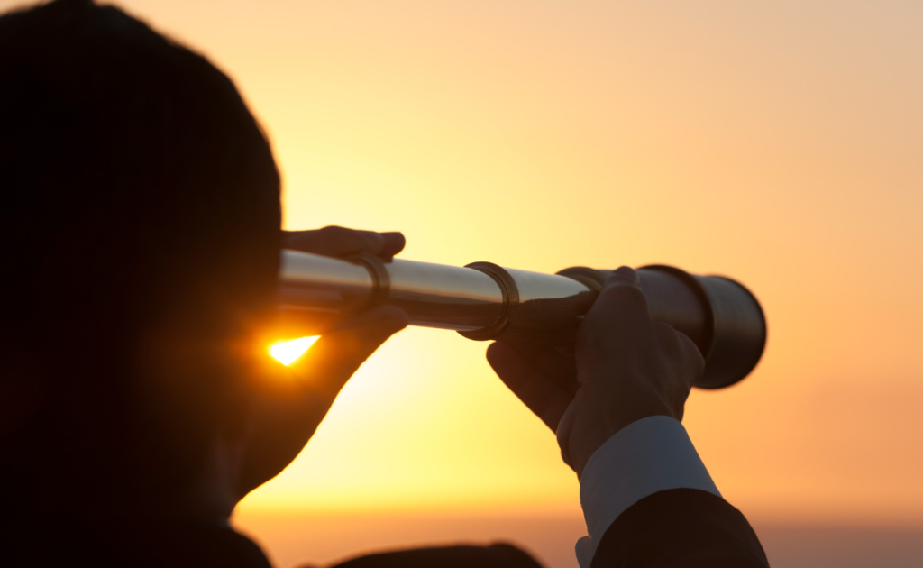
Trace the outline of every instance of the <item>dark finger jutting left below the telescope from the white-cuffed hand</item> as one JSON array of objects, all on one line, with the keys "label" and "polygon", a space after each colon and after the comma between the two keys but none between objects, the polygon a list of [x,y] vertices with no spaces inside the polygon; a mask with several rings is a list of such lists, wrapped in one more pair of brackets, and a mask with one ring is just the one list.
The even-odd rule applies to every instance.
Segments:
[{"label": "dark finger jutting left below the telescope from the white-cuffed hand", "polygon": [[495,343],[487,347],[487,362],[535,416],[552,431],[567,410],[573,394],[551,381],[531,361],[522,357],[508,344]]}]

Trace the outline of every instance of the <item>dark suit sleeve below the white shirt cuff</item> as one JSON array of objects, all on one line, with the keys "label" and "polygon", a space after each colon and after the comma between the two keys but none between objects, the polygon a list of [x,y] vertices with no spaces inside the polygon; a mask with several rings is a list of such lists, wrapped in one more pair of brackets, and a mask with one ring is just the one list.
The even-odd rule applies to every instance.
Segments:
[{"label": "dark suit sleeve below the white shirt cuff", "polygon": [[760,539],[724,499],[668,489],[619,514],[596,547],[592,568],[768,568]]}]

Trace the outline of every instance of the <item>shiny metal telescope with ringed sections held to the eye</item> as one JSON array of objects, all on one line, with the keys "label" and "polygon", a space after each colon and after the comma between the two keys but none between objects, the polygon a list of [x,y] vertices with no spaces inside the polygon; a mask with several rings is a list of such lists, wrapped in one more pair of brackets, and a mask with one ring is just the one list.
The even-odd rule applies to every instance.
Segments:
[{"label": "shiny metal telescope with ringed sections held to the eye", "polygon": [[[388,304],[407,312],[411,325],[478,341],[567,349],[609,272],[572,267],[545,274],[491,262],[456,267],[381,260],[369,253],[335,259],[282,250],[278,295],[281,306],[318,318]],[[766,320],[747,288],[723,276],[664,265],[637,272],[653,319],[685,333],[701,351],[705,369],[696,387],[726,387],[756,367],[766,344]]]}]

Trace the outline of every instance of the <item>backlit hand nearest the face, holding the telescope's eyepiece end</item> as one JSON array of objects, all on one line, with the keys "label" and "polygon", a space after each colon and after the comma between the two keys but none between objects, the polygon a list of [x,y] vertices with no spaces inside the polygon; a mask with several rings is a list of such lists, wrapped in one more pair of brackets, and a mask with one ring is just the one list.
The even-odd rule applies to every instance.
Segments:
[{"label": "backlit hand nearest the face, holding the telescope's eyepiece end", "polygon": [[[370,252],[390,258],[404,247],[400,233],[373,233],[342,227],[286,232],[283,248],[342,257]],[[314,434],[346,381],[392,334],[407,325],[399,308],[380,307],[333,325],[305,356],[288,368],[275,368],[260,385],[261,400],[246,443],[239,498],[256,489],[294,460]],[[300,326],[300,327],[299,327]],[[310,322],[285,318],[293,337],[316,334]]]}]

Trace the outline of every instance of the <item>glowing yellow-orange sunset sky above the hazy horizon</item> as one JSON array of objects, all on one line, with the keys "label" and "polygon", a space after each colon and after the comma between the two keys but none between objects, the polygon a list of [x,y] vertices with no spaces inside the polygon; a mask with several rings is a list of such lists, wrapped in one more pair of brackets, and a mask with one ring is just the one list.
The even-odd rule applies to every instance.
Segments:
[{"label": "glowing yellow-orange sunset sky above the hazy horizon", "polygon": [[[16,3],[0,0],[0,7]],[[668,263],[760,297],[761,366],[694,393],[725,497],[923,524],[923,7],[129,0],[231,75],[285,224],[554,272]],[[244,511],[561,511],[577,482],[484,344],[408,330]]]}]

